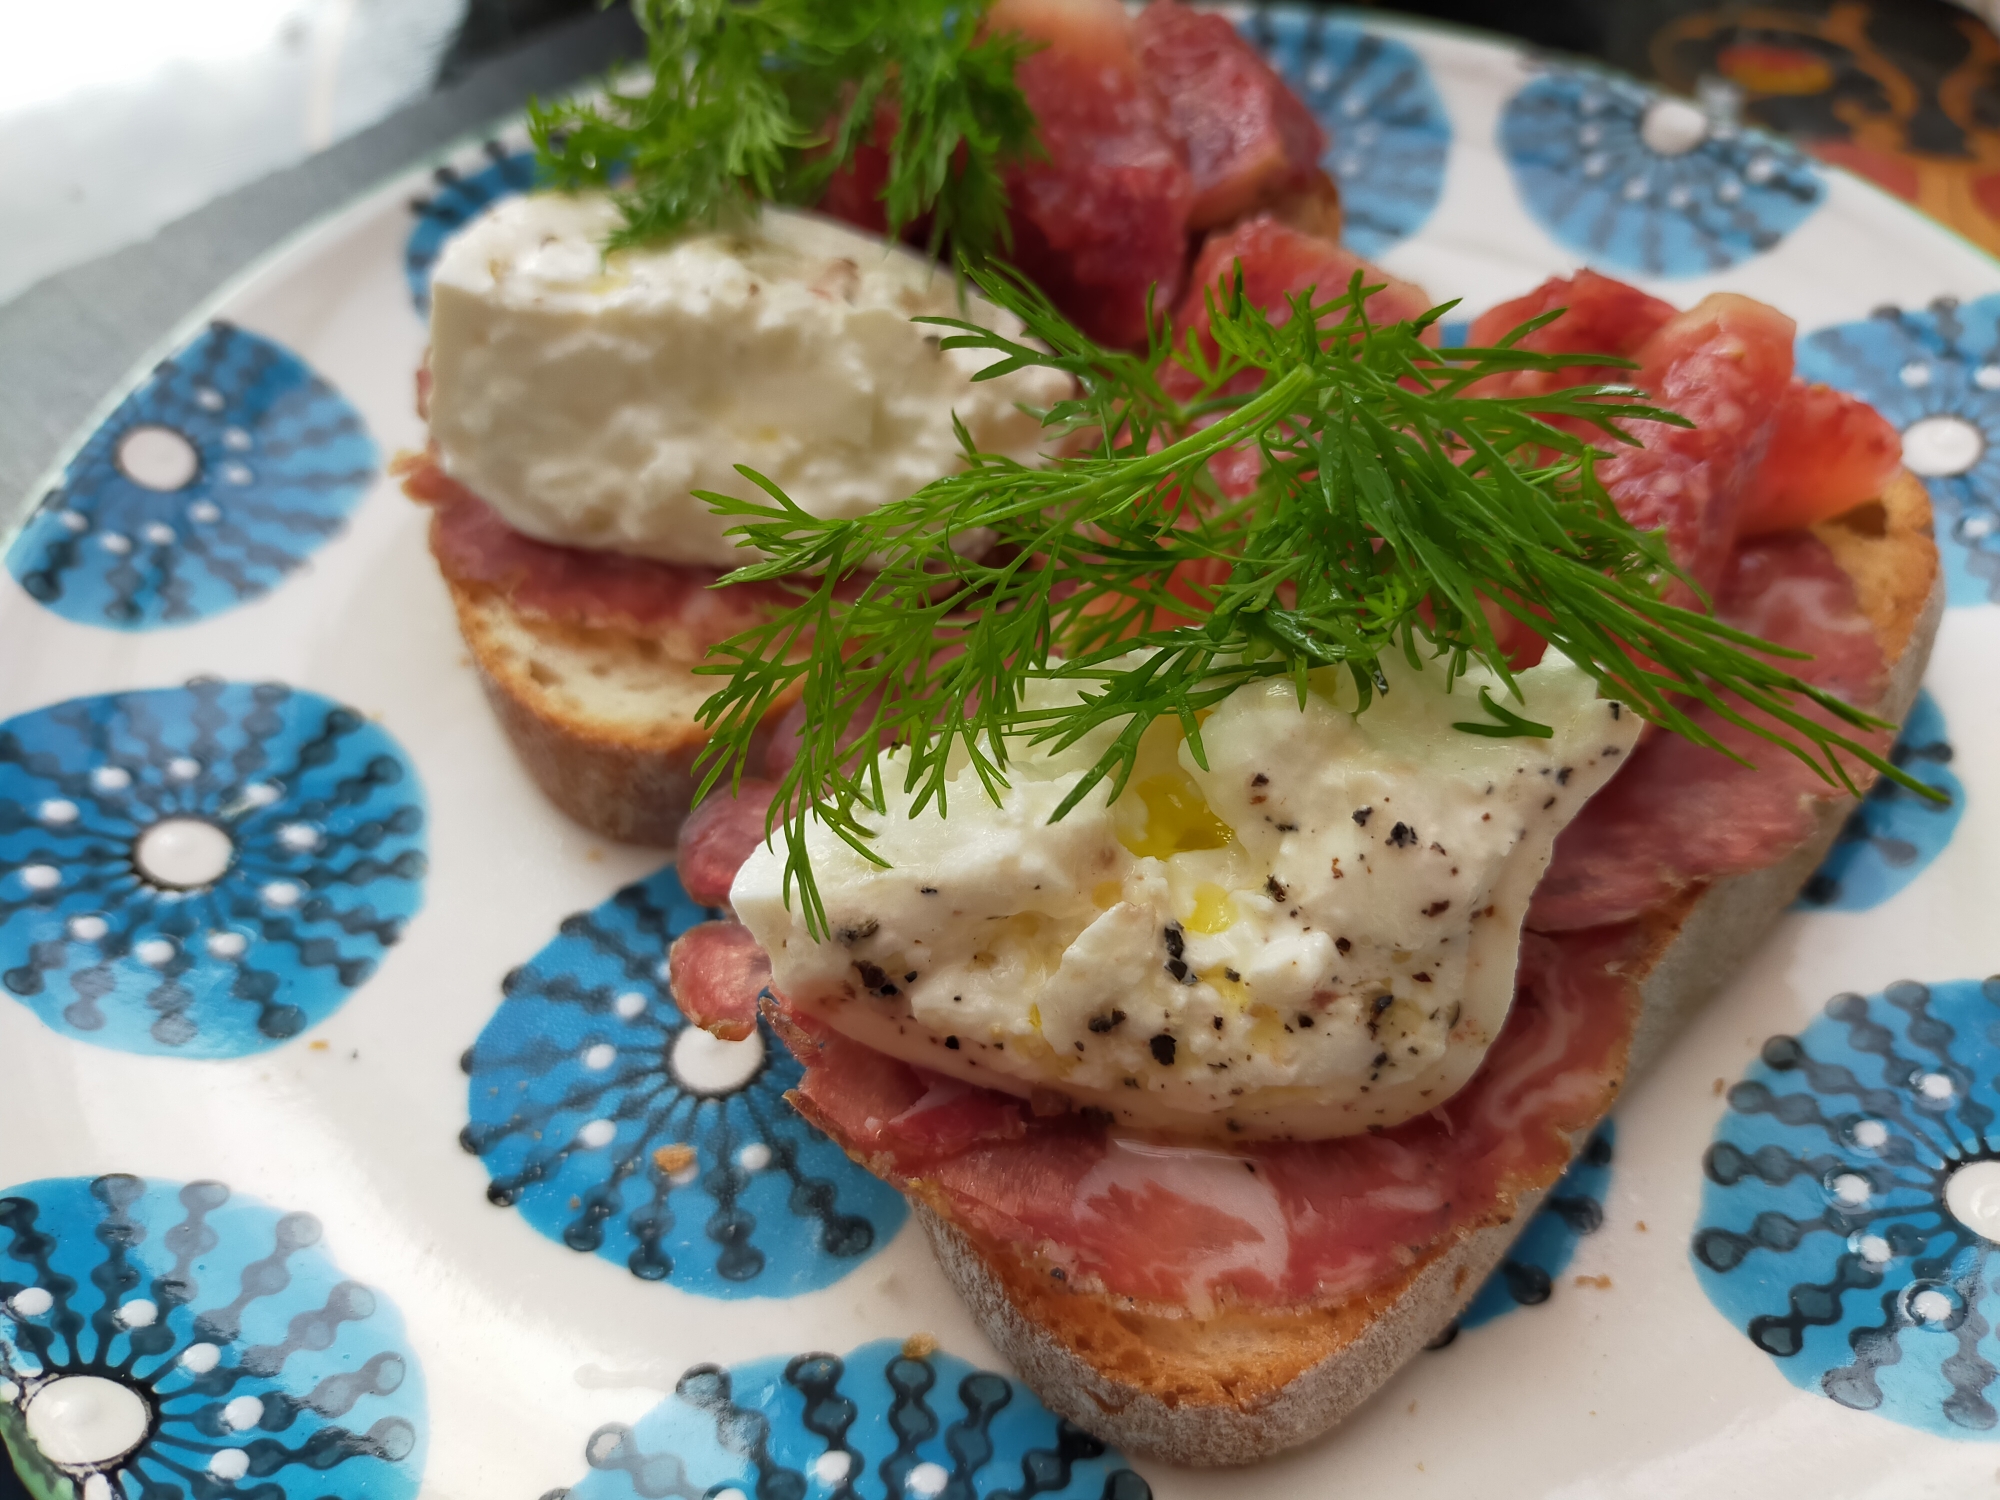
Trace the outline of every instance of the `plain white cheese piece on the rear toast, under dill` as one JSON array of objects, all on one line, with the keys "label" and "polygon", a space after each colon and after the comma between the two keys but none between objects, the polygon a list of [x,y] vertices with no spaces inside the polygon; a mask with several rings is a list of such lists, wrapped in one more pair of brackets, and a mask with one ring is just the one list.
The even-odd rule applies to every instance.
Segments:
[{"label": "plain white cheese piece on the rear toast, under dill", "polygon": [[508,198],[444,248],[430,290],[430,436],[444,472],[544,542],[734,566],[694,490],[762,500],[748,464],[816,516],[860,516],[958,468],[952,414],[1036,462],[1020,410],[1052,370],[974,382],[918,314],[1020,332],[948,272],[824,218],[602,252],[602,194]]}]

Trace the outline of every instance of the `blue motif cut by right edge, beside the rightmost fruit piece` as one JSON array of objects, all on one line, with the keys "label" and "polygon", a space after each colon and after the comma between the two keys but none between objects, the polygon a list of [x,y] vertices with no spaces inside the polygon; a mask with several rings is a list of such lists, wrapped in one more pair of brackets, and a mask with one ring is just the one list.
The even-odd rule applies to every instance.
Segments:
[{"label": "blue motif cut by right edge, beside the rightmost fruit piece", "polygon": [[1798,372],[1896,424],[1938,514],[1948,602],[2000,604],[2000,296],[1822,328],[1798,340]]}]

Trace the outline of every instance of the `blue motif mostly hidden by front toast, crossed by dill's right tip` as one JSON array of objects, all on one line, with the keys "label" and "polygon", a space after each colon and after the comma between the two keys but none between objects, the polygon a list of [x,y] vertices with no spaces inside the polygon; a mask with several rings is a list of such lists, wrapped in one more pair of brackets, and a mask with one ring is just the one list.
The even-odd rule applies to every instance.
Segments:
[{"label": "blue motif mostly hidden by front toast, crossed by dill's right tip", "polygon": [[1952,842],[1966,810],[1966,788],[1950,770],[1944,714],[1928,692],[1916,696],[1888,758],[1946,800],[1930,802],[1888,778],[1878,780],[1848,814],[1834,848],[1800,892],[1800,906],[1866,912],[1916,880]]}]

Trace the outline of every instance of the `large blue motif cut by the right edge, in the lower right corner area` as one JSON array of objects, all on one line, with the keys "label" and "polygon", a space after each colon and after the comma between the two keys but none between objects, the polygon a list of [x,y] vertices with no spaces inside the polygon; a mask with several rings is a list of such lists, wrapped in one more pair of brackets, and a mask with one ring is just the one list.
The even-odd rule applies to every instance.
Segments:
[{"label": "large blue motif cut by the right edge, in the lower right corner area", "polygon": [[1840,994],[1774,1036],[1702,1160],[1694,1270],[1784,1376],[2000,1438],[2000,978]]}]

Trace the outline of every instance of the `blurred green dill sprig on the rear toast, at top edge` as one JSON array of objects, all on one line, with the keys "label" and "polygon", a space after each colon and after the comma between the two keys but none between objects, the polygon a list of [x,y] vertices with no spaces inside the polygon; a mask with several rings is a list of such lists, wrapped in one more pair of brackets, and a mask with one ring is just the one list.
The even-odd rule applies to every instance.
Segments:
[{"label": "blurred green dill sprig on the rear toast, at top edge", "polygon": [[1002,168],[1036,150],[1014,82],[1028,44],[986,36],[990,0],[632,0],[652,80],[528,106],[544,176],[612,186],[606,248],[714,228],[756,202],[810,204],[890,108],[890,234],[930,216],[930,248],[1008,244]]}]

